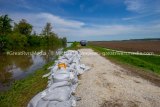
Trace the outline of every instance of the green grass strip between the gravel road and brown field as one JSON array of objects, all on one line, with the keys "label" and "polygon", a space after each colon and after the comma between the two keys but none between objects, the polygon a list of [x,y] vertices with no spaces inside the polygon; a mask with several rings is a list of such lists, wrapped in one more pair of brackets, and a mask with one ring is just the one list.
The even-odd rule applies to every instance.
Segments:
[{"label": "green grass strip between the gravel road and brown field", "polygon": [[[116,52],[113,50],[108,50],[103,47],[98,46],[90,46],[93,50],[99,52],[104,55],[104,53],[115,52],[121,54],[120,52]],[[123,53],[123,52],[122,52]],[[160,56],[148,56],[148,55],[106,55],[110,59],[114,59],[116,61],[122,62],[124,64],[129,64],[138,68],[142,68],[145,71],[150,71],[155,74],[160,75]]]}]

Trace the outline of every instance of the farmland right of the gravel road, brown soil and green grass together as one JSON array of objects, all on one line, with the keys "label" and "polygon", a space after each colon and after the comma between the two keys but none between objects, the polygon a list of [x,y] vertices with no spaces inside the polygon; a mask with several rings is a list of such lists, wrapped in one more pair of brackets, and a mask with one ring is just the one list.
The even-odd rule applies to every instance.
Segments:
[{"label": "farmland right of the gravel road, brown soil and green grass together", "polygon": [[[91,48],[107,58],[122,62],[127,65],[142,68],[145,71],[160,74],[159,55],[132,55],[125,52],[153,52],[160,54],[160,40],[129,40],[129,41],[108,41],[90,42]],[[117,51],[118,50],[118,51]],[[123,52],[124,51],[124,52]],[[107,54],[106,54],[107,53]],[[116,55],[110,55],[114,53]]]}]

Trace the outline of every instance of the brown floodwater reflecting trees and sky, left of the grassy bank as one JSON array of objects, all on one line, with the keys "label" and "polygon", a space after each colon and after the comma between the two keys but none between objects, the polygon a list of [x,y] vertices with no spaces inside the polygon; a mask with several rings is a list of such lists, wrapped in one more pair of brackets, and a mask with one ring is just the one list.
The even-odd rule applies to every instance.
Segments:
[{"label": "brown floodwater reflecting trees and sky, left of the grassy bank", "polygon": [[9,51],[0,55],[0,91],[7,90],[15,80],[23,79],[55,59],[58,48]]}]

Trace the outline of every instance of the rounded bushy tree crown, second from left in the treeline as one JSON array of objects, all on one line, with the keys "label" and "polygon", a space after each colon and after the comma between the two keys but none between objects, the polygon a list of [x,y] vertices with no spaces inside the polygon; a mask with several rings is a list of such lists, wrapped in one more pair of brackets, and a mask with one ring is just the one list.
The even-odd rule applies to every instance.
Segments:
[{"label": "rounded bushy tree crown, second from left in the treeline", "polygon": [[14,31],[23,35],[30,35],[32,32],[32,25],[29,24],[25,19],[22,19],[18,24],[15,23]]}]

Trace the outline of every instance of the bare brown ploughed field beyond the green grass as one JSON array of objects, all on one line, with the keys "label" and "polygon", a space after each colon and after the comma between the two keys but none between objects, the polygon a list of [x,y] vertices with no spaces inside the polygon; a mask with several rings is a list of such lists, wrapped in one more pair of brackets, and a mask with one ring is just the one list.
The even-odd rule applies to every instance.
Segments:
[{"label": "bare brown ploughed field beyond the green grass", "polygon": [[120,51],[160,54],[160,40],[95,41],[90,44]]}]

